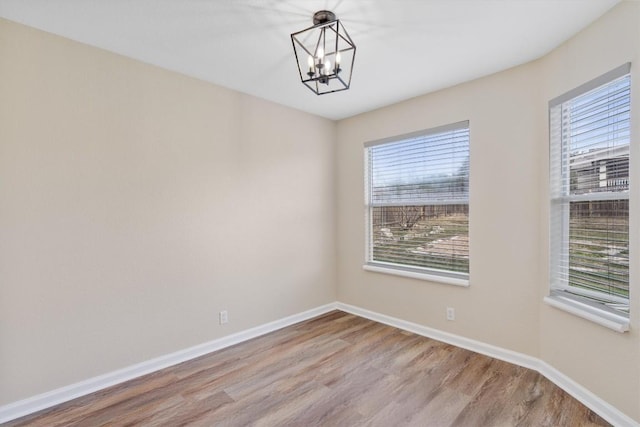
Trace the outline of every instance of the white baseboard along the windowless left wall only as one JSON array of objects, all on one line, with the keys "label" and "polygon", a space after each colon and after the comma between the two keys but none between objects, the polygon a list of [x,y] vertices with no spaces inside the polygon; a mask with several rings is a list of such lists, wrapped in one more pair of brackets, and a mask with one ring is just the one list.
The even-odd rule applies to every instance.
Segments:
[{"label": "white baseboard along the windowless left wall only", "polygon": [[59,405],[60,403],[68,402],[69,400],[85,396],[99,390],[103,390],[113,385],[132,380],[142,375],[195,359],[196,357],[203,356],[207,353],[211,353],[212,351],[221,350],[243,341],[268,334],[269,332],[277,331],[278,329],[302,322],[303,320],[311,319],[335,309],[335,303],[326,304],[303,313],[294,314],[255,328],[247,329],[236,334],[156,357],[155,359],[147,360],[123,369],[118,369],[117,371],[109,372],[104,375],[89,378],[87,380],[51,390],[8,405],[0,406],[0,424]]}]

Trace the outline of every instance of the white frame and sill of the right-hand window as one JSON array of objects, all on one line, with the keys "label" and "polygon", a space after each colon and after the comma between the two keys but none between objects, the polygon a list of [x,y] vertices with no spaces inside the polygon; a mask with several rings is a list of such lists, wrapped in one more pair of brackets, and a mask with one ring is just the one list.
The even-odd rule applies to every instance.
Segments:
[{"label": "white frame and sill of the right-hand window", "polygon": [[[569,261],[567,258],[566,265],[561,261],[562,256],[566,254],[570,256],[569,249],[569,208],[572,202],[580,201],[606,201],[606,200],[627,200],[631,199],[631,193],[628,190],[612,191],[609,193],[599,193],[597,191],[585,194],[571,194],[570,185],[567,185],[567,171],[569,170],[568,154],[563,154],[563,150],[567,150],[562,136],[564,125],[562,124],[564,105],[576,98],[581,97],[591,91],[599,89],[603,86],[612,84],[622,78],[630,79],[631,64],[623,64],[608,73],[605,73],[569,92],[560,95],[549,101],[549,294],[544,301],[561,310],[593,321],[602,326],[608,327],[618,332],[626,332],[629,330],[629,313],[620,310],[614,310],[605,305],[604,302],[599,303],[595,298],[602,298],[607,294],[604,292],[581,290],[568,282],[564,283],[562,277],[568,278]],[[631,100],[629,100],[629,105]],[[631,121],[631,117],[629,117]],[[632,138],[629,137],[629,150],[632,145]],[[629,154],[629,165],[631,155]],[[630,167],[629,167],[630,169]],[[562,172],[564,177],[561,177]],[[570,184],[570,183],[569,183]],[[566,188],[565,188],[566,187]],[[591,196],[590,196],[591,195]],[[633,216],[627,212],[627,232]],[[630,244],[630,239],[628,244]],[[632,257],[629,255],[629,260]],[[627,282],[631,287],[631,277]],[[630,292],[630,289],[629,289]],[[624,298],[617,296],[608,296],[610,302],[616,300],[622,302]],[[603,300],[605,298],[602,298]],[[630,297],[626,299],[626,303],[630,304]]]}]

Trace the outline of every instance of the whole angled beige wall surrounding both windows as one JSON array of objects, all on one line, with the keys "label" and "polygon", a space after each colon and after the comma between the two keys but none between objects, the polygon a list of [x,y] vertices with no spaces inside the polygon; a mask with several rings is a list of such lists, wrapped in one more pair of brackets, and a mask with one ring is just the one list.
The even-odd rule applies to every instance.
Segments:
[{"label": "whole angled beige wall surrounding both windows", "polygon": [[[542,301],[548,291],[548,101],[640,53],[640,3],[623,2],[550,55],[338,125],[338,299],[541,358],[640,420],[640,312],[619,334]],[[633,80],[640,81],[633,67]],[[634,84],[634,135],[640,135]],[[636,107],[637,106],[637,107]],[[470,287],[362,270],[363,143],[470,121]],[[637,141],[638,138],[634,137]],[[637,143],[634,181],[640,181]],[[640,207],[634,189],[632,212]],[[635,215],[637,217],[637,215]],[[634,224],[632,251],[640,250]],[[640,259],[633,259],[638,277]],[[632,283],[632,297],[637,295]],[[445,308],[456,320],[445,320]]]}]

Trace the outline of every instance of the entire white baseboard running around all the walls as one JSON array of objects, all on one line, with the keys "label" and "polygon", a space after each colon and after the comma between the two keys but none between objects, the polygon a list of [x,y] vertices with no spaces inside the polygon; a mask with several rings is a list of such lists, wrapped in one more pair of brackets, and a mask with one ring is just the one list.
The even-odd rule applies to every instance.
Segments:
[{"label": "entire white baseboard running around all the walls", "polygon": [[186,362],[212,351],[220,350],[243,341],[259,337],[269,332],[282,329],[286,326],[311,319],[336,309],[374,320],[376,322],[384,323],[385,325],[403,329],[405,331],[413,332],[424,337],[442,341],[447,344],[455,345],[456,347],[465,348],[505,362],[533,369],[540,372],[547,379],[555,383],[558,387],[562,388],[579,402],[593,410],[614,426],[640,427],[640,424],[636,421],[540,359],[340,302],[326,304],[303,313],[247,329],[246,331],[238,332],[217,340],[170,353],[165,356],[160,356],[146,362],[138,363],[104,375],[89,378],[79,383],[71,384],[28,399],[1,406],[0,424],[50,408],[80,396],[94,393],[112,385],[116,385],[178,363]]}]

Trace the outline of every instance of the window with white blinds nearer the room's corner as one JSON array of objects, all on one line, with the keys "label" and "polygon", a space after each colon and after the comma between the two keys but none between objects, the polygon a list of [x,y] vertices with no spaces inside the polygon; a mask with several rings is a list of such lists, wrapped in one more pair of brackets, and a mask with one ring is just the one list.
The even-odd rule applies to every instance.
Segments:
[{"label": "window with white blinds nearer the room's corner", "polygon": [[467,285],[469,122],[365,144],[365,269]]}]

